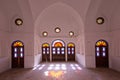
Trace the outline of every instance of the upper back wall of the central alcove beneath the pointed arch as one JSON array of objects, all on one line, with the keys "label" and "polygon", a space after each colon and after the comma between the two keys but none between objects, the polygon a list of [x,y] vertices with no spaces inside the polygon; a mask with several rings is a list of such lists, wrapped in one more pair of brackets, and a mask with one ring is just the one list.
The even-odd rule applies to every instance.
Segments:
[{"label": "upper back wall of the central alcove beneath the pointed arch", "polygon": [[[44,9],[35,21],[35,30],[40,37],[44,30],[52,37],[69,37],[69,31],[78,36],[84,32],[83,26],[80,14],[74,8],[60,2]],[[56,27],[61,29],[59,34],[54,32]]]}]

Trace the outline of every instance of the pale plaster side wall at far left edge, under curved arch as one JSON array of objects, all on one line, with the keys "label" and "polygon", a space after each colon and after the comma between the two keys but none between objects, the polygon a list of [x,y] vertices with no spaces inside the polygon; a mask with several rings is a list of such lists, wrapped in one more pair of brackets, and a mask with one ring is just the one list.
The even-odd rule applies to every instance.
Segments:
[{"label": "pale plaster side wall at far left edge, under curved arch", "polygon": [[[0,5],[1,6],[1,5]],[[10,69],[8,20],[0,7],[0,73]]]}]

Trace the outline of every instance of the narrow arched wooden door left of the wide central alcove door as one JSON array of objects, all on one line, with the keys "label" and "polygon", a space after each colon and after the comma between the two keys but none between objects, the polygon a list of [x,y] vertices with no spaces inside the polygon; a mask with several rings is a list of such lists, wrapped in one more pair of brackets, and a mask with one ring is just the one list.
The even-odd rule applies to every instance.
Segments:
[{"label": "narrow arched wooden door left of the wide central alcove door", "polygon": [[48,43],[42,45],[42,61],[50,61],[50,45]]}]

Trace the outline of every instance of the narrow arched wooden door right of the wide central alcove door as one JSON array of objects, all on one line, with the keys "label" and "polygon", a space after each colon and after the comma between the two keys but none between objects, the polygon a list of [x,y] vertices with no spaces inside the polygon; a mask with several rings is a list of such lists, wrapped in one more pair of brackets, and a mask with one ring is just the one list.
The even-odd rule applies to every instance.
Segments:
[{"label": "narrow arched wooden door right of the wide central alcove door", "polygon": [[67,45],[67,60],[75,61],[75,44],[68,43]]}]

